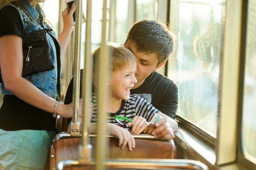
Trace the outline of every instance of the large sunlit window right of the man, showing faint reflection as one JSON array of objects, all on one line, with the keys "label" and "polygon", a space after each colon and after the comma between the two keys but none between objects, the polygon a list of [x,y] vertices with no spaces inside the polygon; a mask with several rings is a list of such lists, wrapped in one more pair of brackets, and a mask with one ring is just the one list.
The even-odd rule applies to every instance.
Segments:
[{"label": "large sunlit window right of the man, showing faint reflection", "polygon": [[177,35],[168,77],[179,87],[177,115],[216,137],[221,50],[221,0],[171,0]]}]

